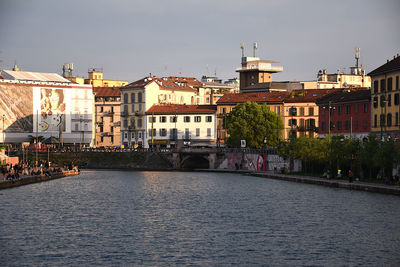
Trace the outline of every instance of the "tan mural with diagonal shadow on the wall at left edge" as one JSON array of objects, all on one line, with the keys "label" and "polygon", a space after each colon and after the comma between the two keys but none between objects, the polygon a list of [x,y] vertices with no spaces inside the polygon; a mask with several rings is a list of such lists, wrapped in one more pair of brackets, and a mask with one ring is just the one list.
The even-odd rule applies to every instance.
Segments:
[{"label": "tan mural with diagonal shadow on the wall at left edge", "polygon": [[0,129],[9,133],[33,131],[32,87],[0,84]]}]

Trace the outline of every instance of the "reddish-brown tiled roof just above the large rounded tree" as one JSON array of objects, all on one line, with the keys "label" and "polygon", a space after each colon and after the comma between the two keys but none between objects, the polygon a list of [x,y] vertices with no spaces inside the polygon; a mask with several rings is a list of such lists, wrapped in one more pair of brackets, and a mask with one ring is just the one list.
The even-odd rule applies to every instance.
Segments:
[{"label": "reddish-brown tiled roof just above the large rounded tree", "polygon": [[289,92],[255,92],[224,94],[218,101],[218,104],[236,104],[245,102],[283,102],[289,96]]}]

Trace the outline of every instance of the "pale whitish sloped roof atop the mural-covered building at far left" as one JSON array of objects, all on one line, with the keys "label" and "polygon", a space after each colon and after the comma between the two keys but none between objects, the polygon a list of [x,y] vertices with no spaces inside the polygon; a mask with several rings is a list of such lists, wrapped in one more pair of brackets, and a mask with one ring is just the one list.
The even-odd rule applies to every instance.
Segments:
[{"label": "pale whitish sloped roof atop the mural-covered building at far left", "polygon": [[2,76],[6,80],[71,83],[57,73],[3,70]]}]

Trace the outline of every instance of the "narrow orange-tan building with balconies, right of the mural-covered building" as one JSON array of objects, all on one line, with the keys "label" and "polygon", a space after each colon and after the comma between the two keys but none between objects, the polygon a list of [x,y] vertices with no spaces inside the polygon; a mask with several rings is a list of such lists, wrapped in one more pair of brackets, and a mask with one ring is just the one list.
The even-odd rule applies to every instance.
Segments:
[{"label": "narrow orange-tan building with balconies, right of the mural-covered building", "polygon": [[117,87],[95,87],[96,146],[121,144],[121,93]]}]

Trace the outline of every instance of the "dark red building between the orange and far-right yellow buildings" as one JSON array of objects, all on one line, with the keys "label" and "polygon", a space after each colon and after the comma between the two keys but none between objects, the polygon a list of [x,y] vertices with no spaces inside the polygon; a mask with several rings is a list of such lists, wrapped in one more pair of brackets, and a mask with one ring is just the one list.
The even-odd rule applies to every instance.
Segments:
[{"label": "dark red building between the orange and far-right yellow buildings", "polygon": [[320,137],[342,134],[346,137],[364,138],[370,133],[369,88],[340,89],[319,98],[317,105]]}]

